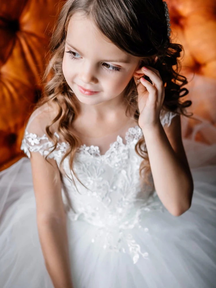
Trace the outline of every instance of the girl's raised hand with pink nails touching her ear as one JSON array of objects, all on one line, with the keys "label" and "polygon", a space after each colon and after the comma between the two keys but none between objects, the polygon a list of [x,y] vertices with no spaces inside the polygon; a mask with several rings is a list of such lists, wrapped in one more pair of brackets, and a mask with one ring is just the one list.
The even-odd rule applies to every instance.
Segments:
[{"label": "girl's raised hand with pink nails touching her ear", "polygon": [[[147,70],[144,69],[145,67]],[[147,75],[152,81],[151,84],[142,77],[140,78],[140,83],[137,85],[140,113],[138,124],[141,129],[152,128],[160,123],[160,111],[165,96],[165,89],[159,71],[148,65],[145,67],[136,71],[137,77]],[[137,84],[135,75],[134,81]]]}]

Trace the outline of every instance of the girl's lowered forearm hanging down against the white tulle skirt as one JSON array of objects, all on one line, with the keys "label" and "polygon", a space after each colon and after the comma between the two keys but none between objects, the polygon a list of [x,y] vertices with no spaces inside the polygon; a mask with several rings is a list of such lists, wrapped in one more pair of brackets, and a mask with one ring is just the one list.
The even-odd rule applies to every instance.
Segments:
[{"label": "girl's lowered forearm hanging down against the white tulle skirt", "polygon": [[66,219],[39,219],[37,226],[46,268],[55,288],[73,288]]}]

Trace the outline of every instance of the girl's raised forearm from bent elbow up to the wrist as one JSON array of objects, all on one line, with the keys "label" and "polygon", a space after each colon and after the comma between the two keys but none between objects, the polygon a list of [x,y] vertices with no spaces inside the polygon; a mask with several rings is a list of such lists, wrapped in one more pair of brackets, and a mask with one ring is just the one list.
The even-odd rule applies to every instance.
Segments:
[{"label": "girl's raised forearm from bent elbow up to the wrist", "polygon": [[181,215],[190,207],[192,177],[177,158],[161,123],[143,129],[143,135],[158,197],[171,214]]}]

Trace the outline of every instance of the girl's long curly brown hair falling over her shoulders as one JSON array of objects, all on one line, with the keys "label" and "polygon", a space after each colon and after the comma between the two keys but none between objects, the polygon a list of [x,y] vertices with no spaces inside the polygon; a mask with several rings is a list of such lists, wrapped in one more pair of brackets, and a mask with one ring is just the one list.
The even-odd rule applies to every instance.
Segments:
[{"label": "girl's long curly brown hair falling over her shoulders", "polygon": [[[50,131],[50,126],[60,119],[58,133],[69,143],[69,149],[61,159],[60,170],[62,162],[69,155],[70,168],[77,178],[73,170],[73,159],[81,141],[68,128],[73,126],[73,121],[79,116],[79,109],[78,103],[75,102],[73,97],[73,91],[67,84],[62,72],[67,27],[71,16],[75,12],[83,12],[87,17],[93,19],[98,29],[118,48],[139,57],[139,68],[147,63],[160,72],[165,87],[164,110],[175,111],[177,114],[183,114],[186,117],[190,117],[193,113],[188,116],[183,111],[184,108],[192,104],[191,101],[180,101],[181,97],[188,94],[188,90],[182,88],[188,83],[187,79],[179,74],[181,69],[179,57],[181,51],[184,50],[182,45],[171,43],[162,0],[66,1],[53,29],[50,41],[50,59],[43,75],[43,97],[35,105],[35,109],[44,103],[56,105],[58,114],[52,123],[46,126],[46,133],[55,143],[52,150],[54,151],[58,139]],[[158,61],[155,63],[154,58],[156,56]],[[135,111],[134,119],[139,118],[137,95],[137,87],[132,77],[125,89],[125,101],[127,103],[126,113],[131,109]],[[62,109],[62,103],[66,107],[65,110]],[[139,169],[140,177],[142,178],[141,171],[145,168],[143,180],[149,183],[148,176],[151,169],[148,154],[141,149],[143,143],[145,143],[144,136],[137,142],[135,151],[143,158]],[[49,154],[46,155],[46,160]],[[64,170],[62,173],[65,174]],[[71,174],[71,176],[75,184],[73,175]],[[79,181],[78,178],[77,180]],[[82,185],[85,186],[84,184]]]}]

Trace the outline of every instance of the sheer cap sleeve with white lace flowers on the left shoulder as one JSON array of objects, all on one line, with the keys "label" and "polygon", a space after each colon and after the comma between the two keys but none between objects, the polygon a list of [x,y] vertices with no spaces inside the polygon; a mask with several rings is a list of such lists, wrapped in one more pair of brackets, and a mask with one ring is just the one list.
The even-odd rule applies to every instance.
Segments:
[{"label": "sheer cap sleeve with white lace flowers on the left shoulder", "polygon": [[[32,152],[39,152],[43,157],[45,157],[53,150],[54,142],[47,137],[45,132],[46,125],[48,125],[52,119],[48,107],[39,107],[31,114],[20,147],[20,149],[24,151],[29,158],[31,158]],[[54,134],[59,138],[56,132],[54,132]],[[56,149],[48,156],[48,158],[56,159],[56,156],[59,156],[60,154],[59,152],[63,152],[64,149],[62,148],[65,148],[63,143],[61,145],[58,143]]]}]

